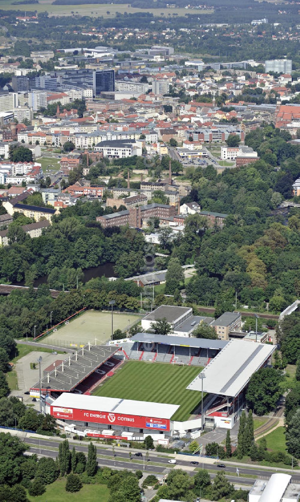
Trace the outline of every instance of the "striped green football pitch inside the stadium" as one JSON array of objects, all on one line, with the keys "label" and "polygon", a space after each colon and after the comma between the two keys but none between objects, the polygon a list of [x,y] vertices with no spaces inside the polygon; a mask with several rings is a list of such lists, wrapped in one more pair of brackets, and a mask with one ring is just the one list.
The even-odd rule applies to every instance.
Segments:
[{"label": "striped green football pitch inside the stadium", "polygon": [[126,361],[93,394],[180,405],[172,420],[184,421],[201,401],[200,392],[188,391],[186,387],[202,369],[163,362]]}]

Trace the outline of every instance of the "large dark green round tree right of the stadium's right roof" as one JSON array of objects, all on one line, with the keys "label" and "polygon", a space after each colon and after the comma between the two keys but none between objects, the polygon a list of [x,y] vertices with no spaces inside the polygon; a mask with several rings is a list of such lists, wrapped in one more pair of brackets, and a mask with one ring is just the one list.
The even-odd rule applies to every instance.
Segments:
[{"label": "large dark green round tree right of the stadium's right roof", "polygon": [[281,381],[281,374],[274,368],[260,368],[252,374],[246,392],[246,402],[256,415],[265,415],[276,408]]}]

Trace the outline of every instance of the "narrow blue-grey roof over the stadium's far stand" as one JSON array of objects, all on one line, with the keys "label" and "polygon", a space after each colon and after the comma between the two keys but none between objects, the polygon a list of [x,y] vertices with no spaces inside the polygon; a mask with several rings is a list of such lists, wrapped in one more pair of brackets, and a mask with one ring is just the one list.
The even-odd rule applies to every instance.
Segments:
[{"label": "narrow blue-grey roof over the stadium's far stand", "polygon": [[[220,350],[225,347],[227,340],[211,340],[209,338],[188,338],[187,336],[156,335],[152,333],[137,333],[130,338],[140,343],[161,343],[163,345],[178,345],[181,347],[210,348]],[[247,342],[248,343],[248,342]]]}]

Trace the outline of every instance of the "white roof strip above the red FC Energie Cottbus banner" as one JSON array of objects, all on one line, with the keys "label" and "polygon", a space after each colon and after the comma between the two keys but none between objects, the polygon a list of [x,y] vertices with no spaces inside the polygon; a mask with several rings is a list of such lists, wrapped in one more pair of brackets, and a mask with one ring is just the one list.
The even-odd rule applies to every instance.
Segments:
[{"label": "white roof strip above the red FC Energie Cottbus banner", "polygon": [[170,419],[179,408],[179,405],[69,393],[61,394],[53,406],[166,419]]}]

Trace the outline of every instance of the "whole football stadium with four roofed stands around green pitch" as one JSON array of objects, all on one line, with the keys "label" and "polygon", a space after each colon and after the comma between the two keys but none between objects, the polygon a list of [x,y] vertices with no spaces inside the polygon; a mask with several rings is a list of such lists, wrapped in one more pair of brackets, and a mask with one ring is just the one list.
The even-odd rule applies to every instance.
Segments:
[{"label": "whole football stadium with four roofed stands around green pitch", "polygon": [[251,375],[274,349],[137,333],[109,345],[88,343],[46,368],[30,393],[41,392],[44,413],[66,431],[139,441],[150,434],[168,444],[204,426],[231,429]]}]

